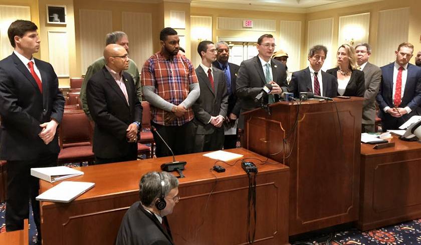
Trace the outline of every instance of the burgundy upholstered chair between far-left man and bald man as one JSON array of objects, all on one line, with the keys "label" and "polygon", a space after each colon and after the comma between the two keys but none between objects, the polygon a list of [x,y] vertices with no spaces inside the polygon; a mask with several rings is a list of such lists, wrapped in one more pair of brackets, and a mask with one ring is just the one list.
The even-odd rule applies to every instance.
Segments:
[{"label": "burgundy upholstered chair between far-left man and bald man", "polygon": [[83,110],[66,110],[59,127],[59,164],[92,162],[92,127]]}]

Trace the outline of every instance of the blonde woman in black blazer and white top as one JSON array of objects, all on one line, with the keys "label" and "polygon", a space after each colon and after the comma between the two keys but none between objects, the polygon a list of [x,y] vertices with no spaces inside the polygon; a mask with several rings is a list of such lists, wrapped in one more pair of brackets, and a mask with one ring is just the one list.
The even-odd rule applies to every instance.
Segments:
[{"label": "blonde woman in black blazer and white top", "polygon": [[336,53],[338,65],[326,72],[338,79],[338,95],[364,97],[364,73],[357,69],[355,50],[348,44]]}]

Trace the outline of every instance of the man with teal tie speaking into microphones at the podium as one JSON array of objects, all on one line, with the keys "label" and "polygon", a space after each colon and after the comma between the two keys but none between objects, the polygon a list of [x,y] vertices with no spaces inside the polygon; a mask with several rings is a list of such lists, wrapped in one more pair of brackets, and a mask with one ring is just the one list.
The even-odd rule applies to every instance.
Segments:
[{"label": "man with teal tie speaking into microphones at the podium", "polygon": [[[275,47],[273,36],[264,34],[257,41],[259,55],[241,63],[236,89],[237,97],[242,100],[241,113],[260,106],[255,97],[267,83],[272,85],[272,91],[263,97],[264,104],[278,102],[280,95],[288,91],[285,65],[271,58]],[[240,116],[239,128],[244,128],[243,116]]]}]

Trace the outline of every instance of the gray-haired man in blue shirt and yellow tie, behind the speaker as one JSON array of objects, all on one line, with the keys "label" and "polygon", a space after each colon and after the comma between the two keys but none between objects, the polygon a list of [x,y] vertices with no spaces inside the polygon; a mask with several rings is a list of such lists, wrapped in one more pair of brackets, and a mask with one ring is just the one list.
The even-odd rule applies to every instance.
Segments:
[{"label": "gray-haired man in blue shirt and yellow tie, behind the speaker", "polygon": [[224,149],[232,149],[237,146],[238,129],[235,122],[240,116],[241,109],[241,102],[236,96],[237,73],[240,66],[228,62],[228,59],[230,58],[230,47],[228,47],[226,42],[218,42],[215,46],[217,48],[217,60],[214,61],[212,65],[224,72],[228,90],[228,110],[227,117],[224,122],[225,130],[230,131],[230,129],[235,127],[233,133],[225,133]]}]

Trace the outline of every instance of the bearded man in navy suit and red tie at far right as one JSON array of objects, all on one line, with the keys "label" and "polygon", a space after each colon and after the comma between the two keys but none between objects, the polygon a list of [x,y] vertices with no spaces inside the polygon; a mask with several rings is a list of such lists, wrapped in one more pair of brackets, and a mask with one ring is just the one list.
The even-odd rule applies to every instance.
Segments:
[{"label": "bearded man in navy suit and red tie at far right", "polygon": [[421,104],[421,68],[409,64],[412,53],[413,45],[402,43],[395,51],[396,61],[380,67],[382,78],[376,99],[383,131],[398,129],[417,114]]}]

